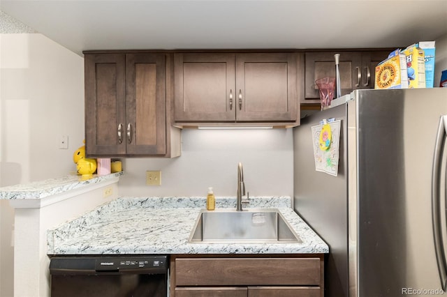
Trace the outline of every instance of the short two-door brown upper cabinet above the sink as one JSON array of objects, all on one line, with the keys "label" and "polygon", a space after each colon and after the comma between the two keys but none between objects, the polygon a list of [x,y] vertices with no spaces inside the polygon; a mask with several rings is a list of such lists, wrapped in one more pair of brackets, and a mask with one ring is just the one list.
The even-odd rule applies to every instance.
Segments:
[{"label": "short two-door brown upper cabinet above the sink", "polygon": [[176,53],[175,123],[295,123],[298,55]]}]

